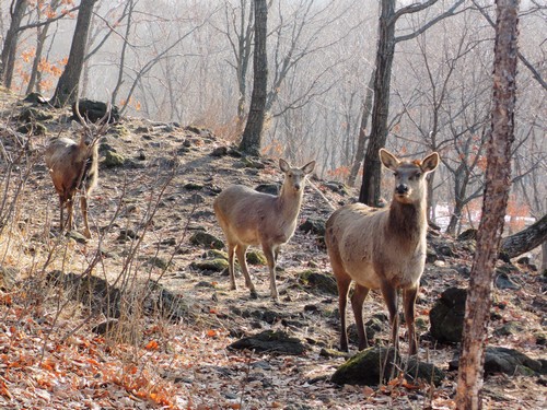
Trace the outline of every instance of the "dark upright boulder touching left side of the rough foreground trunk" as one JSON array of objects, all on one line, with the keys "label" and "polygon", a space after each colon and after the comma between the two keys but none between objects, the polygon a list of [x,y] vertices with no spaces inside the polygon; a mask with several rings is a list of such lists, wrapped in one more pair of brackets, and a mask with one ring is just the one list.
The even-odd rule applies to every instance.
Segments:
[{"label": "dark upright boulder touching left side of the rough foreground trunk", "polygon": [[441,294],[429,313],[433,338],[441,342],[462,341],[466,300],[465,289],[449,288]]}]

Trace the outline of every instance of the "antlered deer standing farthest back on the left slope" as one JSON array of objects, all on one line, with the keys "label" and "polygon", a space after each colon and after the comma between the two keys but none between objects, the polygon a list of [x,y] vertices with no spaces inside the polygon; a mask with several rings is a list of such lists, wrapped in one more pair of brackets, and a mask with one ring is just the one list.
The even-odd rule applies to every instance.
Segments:
[{"label": "antlered deer standing farthest back on the left slope", "polygon": [[[91,231],[88,222],[88,197],[97,185],[98,178],[98,140],[108,128],[105,116],[93,125],[82,118],[75,109],[80,120],[80,139],[73,141],[70,138],[53,139],[45,152],[45,161],[49,175],[54,183],[55,190],[59,196],[59,224],[60,232],[73,227],[73,202],[77,192],[80,192],[80,209],[84,224],[83,235],[91,238]],[[68,218],[65,222],[63,209],[67,208]]]}]

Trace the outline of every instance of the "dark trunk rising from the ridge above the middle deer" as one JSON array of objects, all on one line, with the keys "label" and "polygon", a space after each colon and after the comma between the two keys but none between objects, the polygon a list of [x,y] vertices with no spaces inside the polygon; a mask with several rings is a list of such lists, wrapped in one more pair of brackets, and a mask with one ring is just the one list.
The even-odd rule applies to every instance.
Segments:
[{"label": "dark trunk rising from the ridge above the middle deer", "polygon": [[268,5],[266,0],[255,0],[255,54],[253,56],[254,82],[247,124],[243,131],[240,149],[251,155],[260,154],[263,128],[266,114],[268,85],[268,58],[266,36]]}]

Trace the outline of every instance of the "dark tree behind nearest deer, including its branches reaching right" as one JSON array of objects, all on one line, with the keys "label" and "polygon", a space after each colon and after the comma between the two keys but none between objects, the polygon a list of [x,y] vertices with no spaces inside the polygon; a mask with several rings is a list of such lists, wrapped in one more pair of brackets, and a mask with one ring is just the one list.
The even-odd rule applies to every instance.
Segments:
[{"label": "dark tree behind nearest deer, including its branches reaching right", "polygon": [[370,206],[377,206],[380,202],[380,177],[382,167],[377,152],[385,145],[387,139],[387,117],[389,113],[392,66],[395,56],[395,45],[417,37],[442,19],[453,15],[464,0],[454,1],[454,4],[449,10],[430,20],[410,34],[396,37],[395,25],[401,16],[426,10],[437,3],[437,1],[438,0],[428,0],[423,3],[412,3],[399,10],[395,10],[396,0],[382,0],[381,2],[371,136],[364,155],[363,180],[359,192],[360,202]]}]

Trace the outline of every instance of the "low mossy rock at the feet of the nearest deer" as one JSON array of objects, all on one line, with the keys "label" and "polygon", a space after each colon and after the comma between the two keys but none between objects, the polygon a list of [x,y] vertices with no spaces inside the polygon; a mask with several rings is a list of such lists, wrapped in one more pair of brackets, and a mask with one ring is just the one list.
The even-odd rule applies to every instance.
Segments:
[{"label": "low mossy rock at the feet of the nearest deer", "polygon": [[376,386],[379,383],[387,383],[400,368],[407,368],[405,377],[409,380],[423,379],[440,385],[444,379],[444,373],[430,363],[411,358],[405,364],[400,356],[395,359],[394,348],[373,347],[349,359],[337,368],[330,380],[337,385]]}]

